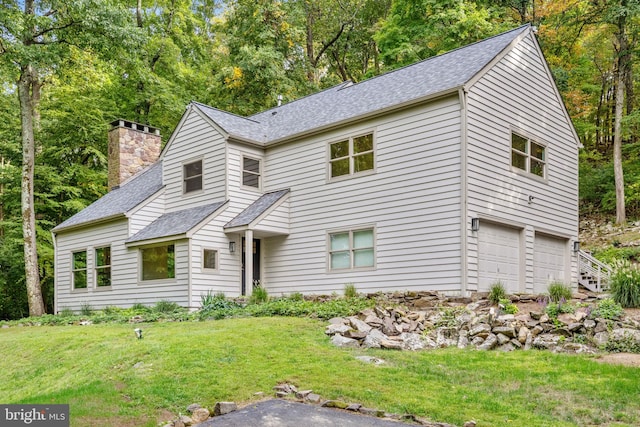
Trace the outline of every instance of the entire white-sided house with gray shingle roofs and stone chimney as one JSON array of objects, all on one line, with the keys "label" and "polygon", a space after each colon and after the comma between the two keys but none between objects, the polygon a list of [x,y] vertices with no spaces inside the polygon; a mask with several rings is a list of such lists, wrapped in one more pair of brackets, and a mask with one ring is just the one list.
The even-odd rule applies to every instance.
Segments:
[{"label": "entire white-sided house with gray shingle roofs and stone chimney", "polygon": [[56,310],[577,286],[580,142],[530,26],[250,117],[192,102],[162,151],[113,125],[114,188],[53,230]]}]

